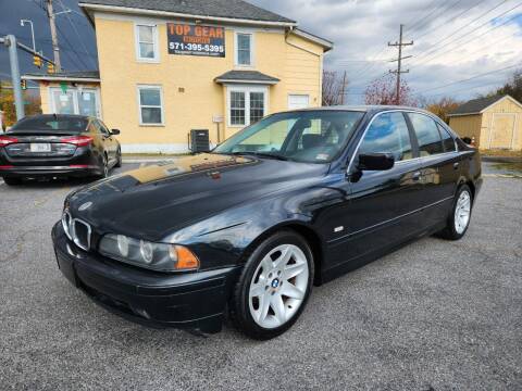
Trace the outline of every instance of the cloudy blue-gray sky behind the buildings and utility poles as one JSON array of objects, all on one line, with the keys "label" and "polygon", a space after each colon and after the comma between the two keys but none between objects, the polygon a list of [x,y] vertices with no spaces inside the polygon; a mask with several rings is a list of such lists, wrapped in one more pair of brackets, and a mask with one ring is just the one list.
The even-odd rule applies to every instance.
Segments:
[{"label": "cloudy blue-gray sky behind the buildings and utility poles", "polygon": [[[347,103],[362,103],[368,85],[397,66],[398,40],[405,25],[403,48],[412,91],[428,100],[452,96],[474,98],[501,86],[522,67],[522,1],[520,0],[250,0],[256,5],[299,23],[299,27],[334,42],[325,70],[347,72]],[[76,0],[54,0],[66,70],[92,70],[97,64],[95,35]],[[50,29],[42,0],[0,0],[0,35],[11,33],[30,46],[35,23],[37,48],[51,56]],[[73,27],[74,26],[74,27]],[[29,55],[21,54],[22,72],[35,72]],[[7,50],[0,48],[0,77],[9,76]],[[467,80],[469,79],[469,80]],[[462,81],[467,80],[467,81]]]}]

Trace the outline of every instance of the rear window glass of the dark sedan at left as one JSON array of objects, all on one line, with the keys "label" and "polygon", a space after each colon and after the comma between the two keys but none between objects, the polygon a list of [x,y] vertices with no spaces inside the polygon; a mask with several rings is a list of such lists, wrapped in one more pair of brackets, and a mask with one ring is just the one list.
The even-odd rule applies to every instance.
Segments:
[{"label": "rear window glass of the dark sedan at left", "polygon": [[26,130],[83,133],[87,128],[87,122],[82,117],[34,116],[18,121],[9,133]]}]

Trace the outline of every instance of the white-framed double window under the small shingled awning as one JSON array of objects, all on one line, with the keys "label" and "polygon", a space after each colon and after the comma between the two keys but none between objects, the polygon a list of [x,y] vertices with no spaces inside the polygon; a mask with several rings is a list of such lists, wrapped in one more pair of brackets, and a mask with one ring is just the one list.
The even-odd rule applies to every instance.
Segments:
[{"label": "white-framed double window under the small shingled awning", "polygon": [[229,87],[228,124],[248,126],[257,123],[266,113],[266,88]]}]

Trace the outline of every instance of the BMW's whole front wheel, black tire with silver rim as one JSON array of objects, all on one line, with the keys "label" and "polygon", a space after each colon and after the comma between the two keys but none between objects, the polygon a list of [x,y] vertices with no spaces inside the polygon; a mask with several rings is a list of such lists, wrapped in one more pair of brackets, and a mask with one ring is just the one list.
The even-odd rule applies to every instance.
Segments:
[{"label": "BMW's whole front wheel, black tire with silver rim", "polygon": [[300,235],[283,230],[262,241],[234,287],[229,304],[234,326],[257,340],[288,330],[304,310],[313,272],[312,251]]}]

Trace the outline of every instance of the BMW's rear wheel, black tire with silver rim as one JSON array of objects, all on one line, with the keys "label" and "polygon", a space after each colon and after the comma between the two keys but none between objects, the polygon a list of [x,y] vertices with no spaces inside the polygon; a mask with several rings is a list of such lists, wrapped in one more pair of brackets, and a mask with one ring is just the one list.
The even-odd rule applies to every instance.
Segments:
[{"label": "BMW's rear wheel, black tire with silver rim", "polygon": [[461,239],[470,226],[472,206],[473,193],[468,185],[462,185],[455,194],[446,228],[438,232],[437,236],[447,240]]}]

